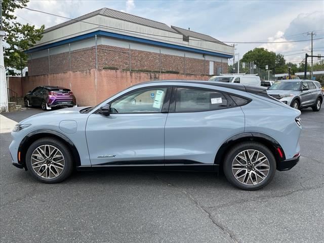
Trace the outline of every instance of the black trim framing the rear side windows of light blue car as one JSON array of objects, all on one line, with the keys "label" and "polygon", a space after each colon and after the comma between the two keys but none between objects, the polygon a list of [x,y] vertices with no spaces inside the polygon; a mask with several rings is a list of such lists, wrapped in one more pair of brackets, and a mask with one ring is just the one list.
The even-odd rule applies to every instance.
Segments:
[{"label": "black trim framing the rear side windows of light blue car", "polygon": [[[224,91],[214,90],[214,89],[208,89],[208,88],[192,87],[192,86],[174,86],[172,88],[172,95],[171,95],[171,102],[170,102],[169,113],[193,113],[193,112],[213,111],[213,110],[204,110],[204,111],[176,112],[176,100],[177,100],[177,90],[178,90],[178,88],[195,89],[195,90],[208,90],[208,91],[212,91],[212,92],[221,93],[226,98],[226,100],[227,100],[227,107],[222,107],[222,108],[213,109],[213,110],[223,110],[223,109],[238,107],[238,105],[230,97],[230,93],[227,93],[227,92],[224,92]],[[239,95],[236,95],[236,96],[239,96]],[[247,99],[247,98],[245,98],[245,99]],[[248,103],[250,103],[250,101]]]}]

